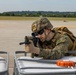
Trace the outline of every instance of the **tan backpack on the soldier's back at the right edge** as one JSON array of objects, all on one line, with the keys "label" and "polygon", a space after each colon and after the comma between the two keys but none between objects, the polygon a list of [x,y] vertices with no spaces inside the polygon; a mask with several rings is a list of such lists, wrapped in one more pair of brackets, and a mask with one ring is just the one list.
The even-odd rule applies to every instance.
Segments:
[{"label": "tan backpack on the soldier's back at the right edge", "polygon": [[58,32],[65,32],[70,37],[70,39],[73,41],[72,50],[76,50],[76,36],[74,36],[74,34],[67,27],[56,27],[54,28],[54,30]]}]

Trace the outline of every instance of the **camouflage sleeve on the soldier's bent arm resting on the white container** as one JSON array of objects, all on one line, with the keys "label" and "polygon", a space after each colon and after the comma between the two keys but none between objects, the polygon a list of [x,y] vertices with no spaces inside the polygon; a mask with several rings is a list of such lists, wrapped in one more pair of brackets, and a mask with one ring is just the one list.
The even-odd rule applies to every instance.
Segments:
[{"label": "camouflage sleeve on the soldier's bent arm resting on the white container", "polygon": [[68,51],[70,38],[68,36],[63,36],[56,41],[56,46],[53,49],[42,49],[40,51],[40,56],[45,59],[59,59],[64,56]]}]

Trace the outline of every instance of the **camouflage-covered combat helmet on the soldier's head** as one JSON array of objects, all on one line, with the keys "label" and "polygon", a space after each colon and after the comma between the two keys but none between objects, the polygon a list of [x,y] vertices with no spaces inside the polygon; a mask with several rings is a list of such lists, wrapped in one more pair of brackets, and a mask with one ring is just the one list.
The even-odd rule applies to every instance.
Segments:
[{"label": "camouflage-covered combat helmet on the soldier's head", "polygon": [[53,28],[53,25],[50,23],[50,21],[47,18],[41,18],[35,22],[33,22],[32,24],[32,32],[37,32],[40,31],[42,29],[46,29],[46,28]]}]

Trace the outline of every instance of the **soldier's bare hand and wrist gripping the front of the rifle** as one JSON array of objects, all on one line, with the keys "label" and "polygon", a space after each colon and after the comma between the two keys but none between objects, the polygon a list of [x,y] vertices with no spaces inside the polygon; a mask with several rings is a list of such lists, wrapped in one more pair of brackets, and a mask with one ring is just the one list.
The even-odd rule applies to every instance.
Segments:
[{"label": "soldier's bare hand and wrist gripping the front of the rifle", "polygon": [[39,54],[40,52],[39,48],[35,47],[31,40],[29,41],[30,41],[30,44],[25,45],[25,52]]}]

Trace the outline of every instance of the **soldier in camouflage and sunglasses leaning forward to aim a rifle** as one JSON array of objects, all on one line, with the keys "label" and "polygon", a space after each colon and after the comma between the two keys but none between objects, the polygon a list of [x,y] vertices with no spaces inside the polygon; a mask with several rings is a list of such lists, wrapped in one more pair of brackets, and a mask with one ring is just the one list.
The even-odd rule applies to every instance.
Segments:
[{"label": "soldier in camouflage and sunglasses leaning forward to aim a rifle", "polygon": [[73,42],[66,34],[61,34],[53,30],[53,25],[47,18],[41,18],[32,24],[32,35],[36,34],[40,42],[34,46],[25,45],[26,52],[37,54],[44,59],[59,59],[72,50]]}]

